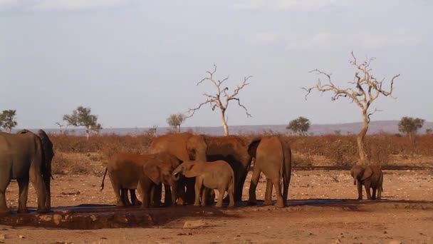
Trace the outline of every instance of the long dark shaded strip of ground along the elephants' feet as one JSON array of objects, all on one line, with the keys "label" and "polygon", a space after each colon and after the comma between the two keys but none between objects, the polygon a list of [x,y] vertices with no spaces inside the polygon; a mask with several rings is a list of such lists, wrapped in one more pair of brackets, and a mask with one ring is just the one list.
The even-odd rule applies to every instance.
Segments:
[{"label": "long dark shaded strip of ground along the elephants' feet", "polygon": [[[344,211],[375,211],[390,208],[433,210],[432,201],[411,200],[350,200],[350,199],[305,199],[288,200],[287,212],[303,210],[344,210]],[[78,205],[71,207],[56,207],[51,213],[38,214],[35,209],[30,213],[11,213],[0,215],[0,225],[36,226],[44,228],[66,229],[100,229],[151,227],[165,225],[179,218],[241,218],[232,210],[253,211],[261,208],[277,209],[271,205],[250,206],[246,201],[238,203],[235,208],[194,207],[192,205],[165,208],[118,208],[114,205]]]}]

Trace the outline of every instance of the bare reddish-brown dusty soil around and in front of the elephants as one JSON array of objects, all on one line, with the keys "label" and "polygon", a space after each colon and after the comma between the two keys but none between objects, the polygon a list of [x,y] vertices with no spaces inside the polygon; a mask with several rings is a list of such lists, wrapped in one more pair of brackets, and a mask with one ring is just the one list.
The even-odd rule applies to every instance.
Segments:
[{"label": "bare reddish-brown dusty soil around and in front of the elephants", "polygon": [[[88,166],[93,170],[85,174],[54,176],[53,207],[114,203],[108,179],[100,191],[101,163]],[[357,193],[348,171],[293,171],[290,206],[283,209],[244,205],[170,208],[187,215],[152,228],[65,230],[0,225],[0,243],[433,243],[432,172],[429,168],[385,171],[385,200],[372,202],[349,200]],[[251,173],[244,200],[250,179]],[[259,199],[264,198],[264,187],[263,179],[257,189]],[[6,194],[8,204],[17,208],[16,182]],[[35,200],[31,188],[28,206],[35,207]],[[182,228],[188,221],[202,226]]]}]

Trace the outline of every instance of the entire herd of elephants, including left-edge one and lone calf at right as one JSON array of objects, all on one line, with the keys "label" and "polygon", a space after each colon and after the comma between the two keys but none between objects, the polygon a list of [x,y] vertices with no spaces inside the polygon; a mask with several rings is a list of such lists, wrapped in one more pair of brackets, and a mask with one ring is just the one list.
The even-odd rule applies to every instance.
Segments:
[{"label": "entire herd of elephants, including left-edge one and lone calf at right", "polygon": [[[6,205],[6,188],[12,179],[19,184],[18,213],[27,213],[28,183],[31,181],[38,198],[38,213],[51,210],[51,161],[53,143],[39,130],[33,133],[0,132],[0,213],[11,213]],[[291,179],[291,148],[278,136],[261,136],[247,141],[239,136],[206,136],[176,133],[159,136],[152,141],[147,154],[119,153],[108,161],[108,173],[115,193],[116,205],[160,205],[162,185],[165,205],[214,203],[214,189],[233,206],[241,201],[242,189],[251,161],[253,176],[249,188],[249,203],[256,203],[256,187],[260,174],[266,176],[264,204],[272,204],[272,189],[276,189],[276,207],[283,208],[288,198]],[[380,166],[356,165],[350,171],[362,199],[362,185],[367,199],[380,199],[383,173]],[[370,188],[372,193],[370,193]],[[140,193],[140,200],[135,190]],[[128,193],[130,197],[128,197]],[[376,195],[377,194],[377,195]]]}]

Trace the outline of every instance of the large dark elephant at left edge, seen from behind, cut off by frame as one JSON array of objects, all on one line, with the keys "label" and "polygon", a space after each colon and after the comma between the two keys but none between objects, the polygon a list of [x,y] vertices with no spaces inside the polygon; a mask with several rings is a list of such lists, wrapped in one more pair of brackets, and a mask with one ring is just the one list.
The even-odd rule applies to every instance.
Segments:
[{"label": "large dark elephant at left edge, seen from behind, cut off by frame", "polygon": [[0,213],[10,213],[5,191],[11,179],[19,185],[18,213],[27,213],[28,182],[38,196],[38,213],[51,210],[51,160],[53,143],[45,131],[38,135],[22,130],[16,134],[0,133]]}]

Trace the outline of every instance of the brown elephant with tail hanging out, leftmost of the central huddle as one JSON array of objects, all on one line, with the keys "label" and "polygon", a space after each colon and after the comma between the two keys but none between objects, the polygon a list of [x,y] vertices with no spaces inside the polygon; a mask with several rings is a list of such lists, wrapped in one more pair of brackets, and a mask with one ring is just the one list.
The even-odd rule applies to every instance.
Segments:
[{"label": "brown elephant with tail hanging out, leftmost of the central huddle", "polygon": [[[160,165],[155,166],[156,168],[164,168],[165,166],[170,166],[171,168],[176,168],[180,161],[175,156],[169,155],[169,153],[153,153],[153,154],[135,154],[135,153],[119,153],[108,161],[107,168],[105,168],[105,173],[103,177],[103,182],[101,184],[101,190],[104,188],[105,176],[108,172],[110,176],[111,185],[113,185],[113,190],[116,198],[116,205],[141,205],[140,200],[137,199],[135,195],[135,189],[137,189],[137,184],[143,177],[143,167],[147,163],[160,163]],[[164,172],[166,174],[171,174],[170,172]],[[127,190],[131,193],[131,203],[127,198]],[[166,198],[171,198],[169,192],[169,185],[166,185]]]}]

